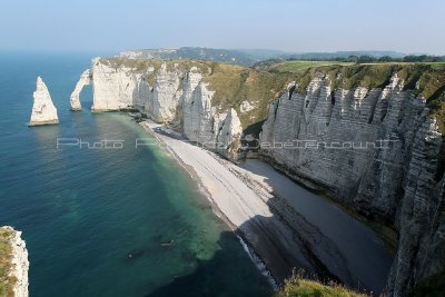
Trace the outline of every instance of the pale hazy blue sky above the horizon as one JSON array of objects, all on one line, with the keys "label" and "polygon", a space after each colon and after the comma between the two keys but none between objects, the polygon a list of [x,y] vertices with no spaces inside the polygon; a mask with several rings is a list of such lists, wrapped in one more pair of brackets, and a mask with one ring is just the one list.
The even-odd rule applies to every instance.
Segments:
[{"label": "pale hazy blue sky above the horizon", "polygon": [[0,49],[445,55],[443,0],[0,0]]}]

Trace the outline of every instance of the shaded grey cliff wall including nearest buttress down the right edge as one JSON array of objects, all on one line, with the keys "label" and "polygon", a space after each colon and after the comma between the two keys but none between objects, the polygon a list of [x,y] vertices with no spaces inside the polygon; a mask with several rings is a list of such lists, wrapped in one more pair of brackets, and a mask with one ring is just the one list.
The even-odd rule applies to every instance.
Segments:
[{"label": "shaded grey cliff wall including nearest buttress down the right edge", "polygon": [[394,224],[399,242],[387,290],[406,296],[445,264],[442,136],[425,100],[396,75],[383,89],[330,85],[318,73],[305,95],[285,93],[270,107],[261,155],[305,185]]}]

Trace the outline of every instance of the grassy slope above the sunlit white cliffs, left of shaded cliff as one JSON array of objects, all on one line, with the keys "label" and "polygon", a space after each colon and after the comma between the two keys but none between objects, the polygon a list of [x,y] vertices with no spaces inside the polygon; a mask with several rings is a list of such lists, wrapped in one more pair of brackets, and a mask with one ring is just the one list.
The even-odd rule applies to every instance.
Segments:
[{"label": "grassy slope above the sunlit white cliffs, left of shaded cliff", "polygon": [[[215,91],[212,105],[220,111],[236,109],[243,127],[264,120],[268,105],[286,91],[294,75],[288,72],[273,73],[258,71],[249,67],[198,60],[159,60],[101,58],[100,63],[119,69],[128,68],[135,73],[145,73],[150,86],[155,86],[156,72],[162,63],[168,71],[189,71],[197,67],[208,82],[208,89]],[[147,71],[148,69],[154,71]],[[255,108],[241,112],[240,105],[248,101]]]}]

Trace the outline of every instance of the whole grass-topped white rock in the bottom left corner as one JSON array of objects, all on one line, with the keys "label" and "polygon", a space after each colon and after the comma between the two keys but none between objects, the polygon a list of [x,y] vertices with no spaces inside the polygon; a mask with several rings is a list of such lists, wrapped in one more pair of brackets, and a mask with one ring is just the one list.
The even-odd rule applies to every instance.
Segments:
[{"label": "whole grass-topped white rock in the bottom left corner", "polygon": [[8,296],[28,297],[28,250],[21,232],[9,226],[0,227],[0,246],[6,251],[0,261],[8,271],[8,277],[1,278],[0,285],[7,289]]}]

